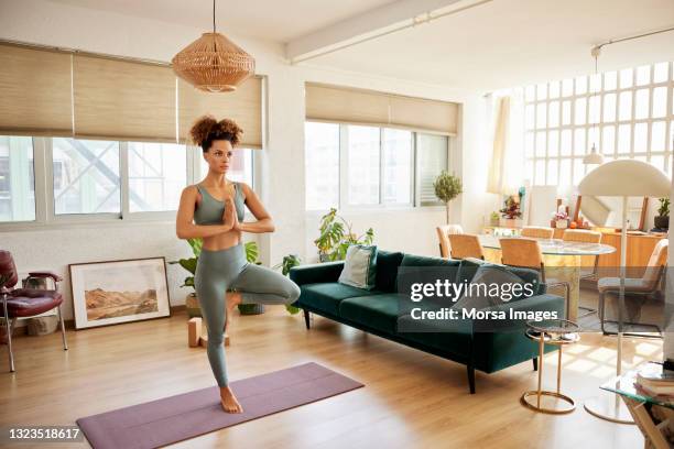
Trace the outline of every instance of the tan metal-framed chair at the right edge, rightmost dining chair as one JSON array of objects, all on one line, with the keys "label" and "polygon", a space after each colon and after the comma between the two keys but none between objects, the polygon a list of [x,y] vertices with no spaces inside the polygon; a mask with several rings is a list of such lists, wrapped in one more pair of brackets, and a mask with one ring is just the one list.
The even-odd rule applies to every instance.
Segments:
[{"label": "tan metal-framed chair at the right edge, rightmost dining chair", "polygon": [[[668,252],[668,239],[661,239],[646,264],[646,269],[641,277],[626,277],[624,280],[624,295],[630,296],[645,296],[655,298],[659,292],[662,292],[662,284],[666,282],[665,272],[667,266],[667,252]],[[601,324],[601,331],[604,335],[616,335],[616,332],[607,331],[605,322],[618,324],[615,320],[606,319],[606,296],[609,293],[620,294],[620,277],[601,277],[597,282],[597,288],[599,289],[599,321]],[[627,321],[624,325],[639,325],[642,327],[655,328],[656,332],[662,337],[662,329],[660,326],[650,324],[639,324]],[[629,333],[623,332],[624,336],[643,337],[641,333]]]}]

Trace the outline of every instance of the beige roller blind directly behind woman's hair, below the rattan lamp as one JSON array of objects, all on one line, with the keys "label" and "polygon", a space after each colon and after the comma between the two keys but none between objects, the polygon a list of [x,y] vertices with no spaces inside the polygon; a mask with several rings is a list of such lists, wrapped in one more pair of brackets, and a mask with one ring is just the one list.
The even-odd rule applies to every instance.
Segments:
[{"label": "beige roller blind directly behind woman's hair, below the rattan lamp", "polygon": [[178,78],[178,135],[189,140],[192,124],[202,116],[236,121],[243,135],[239,146],[262,147],[262,78],[251,77],[233,92],[207,94]]}]

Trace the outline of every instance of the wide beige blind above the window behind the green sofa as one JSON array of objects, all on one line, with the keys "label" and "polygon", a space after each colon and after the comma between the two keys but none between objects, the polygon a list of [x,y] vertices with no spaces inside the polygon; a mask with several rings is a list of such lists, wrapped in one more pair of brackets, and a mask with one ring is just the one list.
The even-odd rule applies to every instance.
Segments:
[{"label": "wide beige blind above the window behind the green sofa", "polygon": [[399,127],[456,135],[458,105],[307,83],[308,120]]}]

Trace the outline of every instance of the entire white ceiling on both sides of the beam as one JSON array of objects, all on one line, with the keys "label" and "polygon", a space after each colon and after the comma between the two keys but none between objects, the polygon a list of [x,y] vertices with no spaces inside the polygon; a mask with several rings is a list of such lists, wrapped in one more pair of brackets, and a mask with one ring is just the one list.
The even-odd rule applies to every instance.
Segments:
[{"label": "entire white ceiling on both sides of the beam", "polygon": [[[210,0],[51,1],[211,26]],[[339,35],[366,11],[396,3],[403,1],[218,0],[217,24],[225,33],[312,42],[314,33]],[[668,26],[674,0],[492,0],[300,64],[487,91],[591,73],[594,45]],[[599,72],[663,61],[674,61],[674,32],[604,47]]]}]

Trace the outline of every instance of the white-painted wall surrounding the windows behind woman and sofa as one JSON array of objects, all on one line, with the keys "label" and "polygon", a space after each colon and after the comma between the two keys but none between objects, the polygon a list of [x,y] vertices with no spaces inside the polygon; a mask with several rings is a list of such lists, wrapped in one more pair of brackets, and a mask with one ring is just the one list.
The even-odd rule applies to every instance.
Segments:
[{"label": "white-painted wall surrounding the windows behind woman and sofa", "polygon": [[[0,39],[166,62],[207,31],[44,0],[2,2],[0,8]],[[230,37],[256,57],[257,72],[267,75],[268,133],[265,150],[261,154],[259,195],[275,221],[276,232],[260,237],[261,260],[265,264],[275,264],[289,253],[300,254],[307,262],[315,260],[312,241],[317,237],[318,218],[315,213],[305,213],[304,209],[305,81],[461,102],[463,123],[452,161],[456,173],[464,178],[466,193],[453,205],[452,217],[468,231],[479,230],[490,196],[483,193],[487,146],[482,124],[483,98],[478,92],[312,66],[291,66],[284,61],[279,44]],[[368,227],[374,228],[376,242],[382,249],[435,255],[434,228],[444,222],[445,212],[442,208],[372,211],[349,215],[348,219],[360,232]],[[191,254],[186,242],[176,239],[172,221],[0,231],[0,248],[14,254],[21,272],[51,269],[66,278],[68,263],[161,255],[174,260]],[[187,291],[177,286],[185,272],[176,265],[170,265],[167,270],[171,303],[183,304]],[[72,318],[67,282],[64,292],[65,316]]]}]

